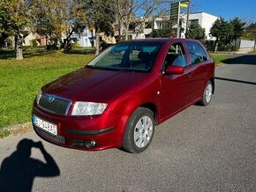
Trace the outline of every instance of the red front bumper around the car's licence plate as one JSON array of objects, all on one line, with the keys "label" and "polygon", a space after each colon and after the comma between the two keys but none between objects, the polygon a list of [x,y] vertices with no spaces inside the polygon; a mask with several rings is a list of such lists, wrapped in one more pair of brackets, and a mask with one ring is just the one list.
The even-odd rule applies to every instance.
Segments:
[{"label": "red front bumper around the car's licence plate", "polygon": [[[71,116],[49,114],[34,103],[33,115],[57,125],[57,136],[34,125],[35,132],[52,144],[85,150],[98,151],[119,148],[124,137],[124,127],[128,116],[105,111],[102,115]],[[94,147],[87,147],[84,142],[96,142]]]}]

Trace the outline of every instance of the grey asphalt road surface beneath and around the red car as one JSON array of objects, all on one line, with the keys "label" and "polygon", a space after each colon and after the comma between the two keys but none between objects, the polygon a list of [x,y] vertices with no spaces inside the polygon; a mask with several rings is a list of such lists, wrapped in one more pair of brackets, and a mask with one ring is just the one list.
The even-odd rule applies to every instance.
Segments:
[{"label": "grey asphalt road surface beneath and around the red car", "polygon": [[[157,126],[141,154],[75,151],[30,132],[0,140],[0,164],[9,160],[6,170],[33,191],[256,191],[256,55],[237,56],[216,69],[210,106],[194,105]],[[24,138],[42,141],[47,152],[35,144],[29,159]]]}]

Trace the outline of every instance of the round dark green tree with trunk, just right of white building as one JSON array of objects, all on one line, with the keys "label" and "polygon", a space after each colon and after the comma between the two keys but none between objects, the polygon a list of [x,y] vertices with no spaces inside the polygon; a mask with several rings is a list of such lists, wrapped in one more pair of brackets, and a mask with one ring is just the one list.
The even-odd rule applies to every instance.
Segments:
[{"label": "round dark green tree with trunk, just right of white building", "polygon": [[233,34],[232,26],[224,18],[218,18],[215,20],[214,25],[210,29],[210,34],[216,38],[215,51],[218,50],[219,43],[225,43],[230,40],[230,36]]}]

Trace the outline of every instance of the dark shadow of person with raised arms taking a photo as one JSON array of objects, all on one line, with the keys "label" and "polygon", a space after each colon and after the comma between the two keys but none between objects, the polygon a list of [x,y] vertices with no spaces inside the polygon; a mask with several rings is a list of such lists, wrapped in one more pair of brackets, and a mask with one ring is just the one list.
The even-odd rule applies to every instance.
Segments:
[{"label": "dark shadow of person with raised arms taking a photo", "polygon": [[[31,149],[38,148],[46,161],[30,157]],[[10,157],[4,159],[0,169],[0,191],[31,191],[35,177],[54,177],[60,174],[55,160],[41,142],[23,139]]]}]

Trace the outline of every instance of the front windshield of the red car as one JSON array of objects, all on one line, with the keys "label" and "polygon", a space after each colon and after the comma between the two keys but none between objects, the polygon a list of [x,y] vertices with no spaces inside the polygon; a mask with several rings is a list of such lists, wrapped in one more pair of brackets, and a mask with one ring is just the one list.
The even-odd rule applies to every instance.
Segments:
[{"label": "front windshield of the red car", "polygon": [[132,70],[148,72],[152,69],[162,42],[124,42],[114,45],[97,56],[89,68],[102,70]]}]

